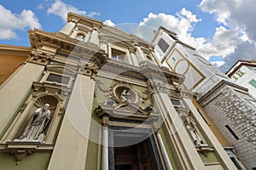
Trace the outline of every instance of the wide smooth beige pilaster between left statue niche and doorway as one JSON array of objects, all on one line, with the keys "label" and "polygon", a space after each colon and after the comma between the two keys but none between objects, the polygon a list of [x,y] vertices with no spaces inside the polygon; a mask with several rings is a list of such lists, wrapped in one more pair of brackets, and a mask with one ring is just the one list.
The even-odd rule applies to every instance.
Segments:
[{"label": "wide smooth beige pilaster between left statue niche and doorway", "polygon": [[85,168],[94,88],[93,79],[78,74],[49,161],[49,169]]}]

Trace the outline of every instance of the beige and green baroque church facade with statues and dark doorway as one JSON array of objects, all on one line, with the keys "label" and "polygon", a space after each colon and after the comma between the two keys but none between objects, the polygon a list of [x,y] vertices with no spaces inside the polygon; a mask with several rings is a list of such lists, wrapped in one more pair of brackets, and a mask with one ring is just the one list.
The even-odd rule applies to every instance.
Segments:
[{"label": "beige and green baroque church facade with statues and dark doorway", "polygon": [[60,32],[28,33],[0,88],[1,168],[237,169],[206,99],[151,43],[73,13]]}]

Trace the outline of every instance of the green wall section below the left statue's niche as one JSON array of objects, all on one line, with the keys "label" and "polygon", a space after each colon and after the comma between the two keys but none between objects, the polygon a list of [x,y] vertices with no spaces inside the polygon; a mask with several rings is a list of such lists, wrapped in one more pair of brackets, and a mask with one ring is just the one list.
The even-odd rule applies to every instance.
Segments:
[{"label": "green wall section below the left statue's niche", "polygon": [[0,153],[0,169],[4,170],[45,170],[49,164],[51,152],[34,152],[32,155],[24,157],[18,165],[16,165],[15,156],[9,152]]}]

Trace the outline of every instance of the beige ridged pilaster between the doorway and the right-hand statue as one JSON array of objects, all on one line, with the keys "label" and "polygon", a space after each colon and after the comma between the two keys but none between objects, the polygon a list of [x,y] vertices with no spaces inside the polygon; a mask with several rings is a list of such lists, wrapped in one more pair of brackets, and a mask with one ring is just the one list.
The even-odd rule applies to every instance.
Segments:
[{"label": "beige ridged pilaster between the doorway and the right-hand statue", "polygon": [[179,161],[177,163],[180,163],[180,166],[185,169],[205,169],[169,96],[162,92],[154,94],[154,102],[160,108],[161,116],[164,119],[162,126],[166,127],[168,138],[172,141],[170,145],[176,145],[174,148],[176,153],[173,154],[177,155],[177,161]]}]

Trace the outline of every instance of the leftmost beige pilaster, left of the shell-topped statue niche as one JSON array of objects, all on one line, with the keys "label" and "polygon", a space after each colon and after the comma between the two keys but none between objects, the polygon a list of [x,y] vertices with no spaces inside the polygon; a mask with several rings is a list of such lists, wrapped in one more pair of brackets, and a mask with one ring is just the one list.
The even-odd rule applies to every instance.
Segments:
[{"label": "leftmost beige pilaster, left of the shell-topped statue niche", "polygon": [[32,89],[32,82],[38,81],[44,72],[43,65],[26,63],[20,71],[0,89],[0,134],[4,133],[9,122],[18,112],[22,102]]}]

